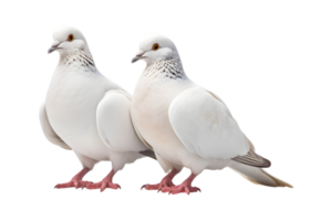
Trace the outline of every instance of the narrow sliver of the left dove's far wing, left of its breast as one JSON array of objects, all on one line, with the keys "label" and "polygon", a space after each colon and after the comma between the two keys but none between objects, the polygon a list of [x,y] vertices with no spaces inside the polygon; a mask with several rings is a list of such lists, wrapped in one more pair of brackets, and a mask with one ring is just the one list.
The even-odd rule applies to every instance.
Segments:
[{"label": "narrow sliver of the left dove's far wing, left of its breast", "polygon": [[72,148],[68,146],[53,130],[53,128],[50,125],[46,109],[45,109],[45,96],[43,97],[42,102],[39,105],[39,112],[38,112],[38,128],[41,130],[42,135],[45,137],[45,139],[55,147],[59,147],[63,150],[68,150],[65,152],[68,157],[75,157],[72,152]]}]

